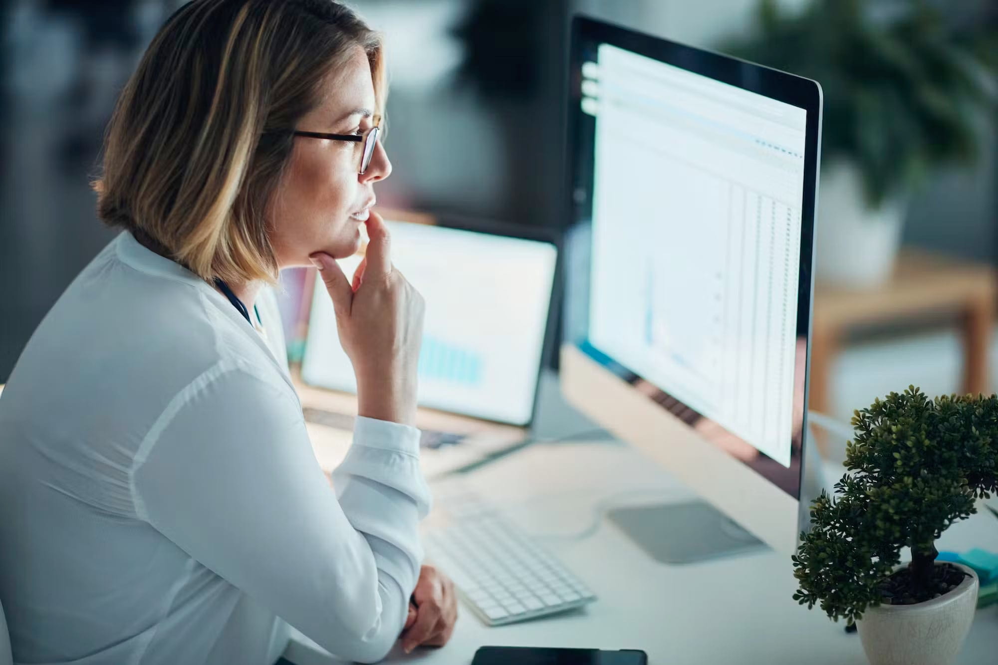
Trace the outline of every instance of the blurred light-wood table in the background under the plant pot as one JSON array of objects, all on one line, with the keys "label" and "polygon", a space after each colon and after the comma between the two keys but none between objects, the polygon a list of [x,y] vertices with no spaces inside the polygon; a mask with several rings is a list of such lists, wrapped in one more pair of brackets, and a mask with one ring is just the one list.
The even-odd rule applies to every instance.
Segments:
[{"label": "blurred light-wood table in the background under the plant pot", "polygon": [[954,316],[963,337],[963,391],[987,392],[988,347],[995,316],[992,267],[904,251],[891,279],[870,290],[817,283],[811,329],[811,410],[828,413],[831,362],[848,333],[858,329]]}]

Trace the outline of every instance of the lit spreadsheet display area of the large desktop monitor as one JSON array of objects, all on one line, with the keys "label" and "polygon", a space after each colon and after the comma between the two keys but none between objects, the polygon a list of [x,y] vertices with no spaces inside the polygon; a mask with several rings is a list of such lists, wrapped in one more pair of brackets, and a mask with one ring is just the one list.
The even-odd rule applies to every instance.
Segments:
[{"label": "lit spreadsheet display area of the large desktop monitor", "polygon": [[806,112],[597,53],[590,338],[789,466]]}]

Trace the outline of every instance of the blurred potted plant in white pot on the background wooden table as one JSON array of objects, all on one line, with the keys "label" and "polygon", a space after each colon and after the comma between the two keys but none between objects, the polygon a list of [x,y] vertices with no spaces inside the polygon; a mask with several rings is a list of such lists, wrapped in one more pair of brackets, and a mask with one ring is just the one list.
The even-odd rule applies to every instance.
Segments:
[{"label": "blurred potted plant in white pot on the background wooden table", "polygon": [[722,46],[821,84],[822,281],[885,280],[911,195],[940,167],[979,157],[995,119],[998,28],[951,4],[945,10],[926,0],[814,0],[789,13],[762,0],[757,34]]}]

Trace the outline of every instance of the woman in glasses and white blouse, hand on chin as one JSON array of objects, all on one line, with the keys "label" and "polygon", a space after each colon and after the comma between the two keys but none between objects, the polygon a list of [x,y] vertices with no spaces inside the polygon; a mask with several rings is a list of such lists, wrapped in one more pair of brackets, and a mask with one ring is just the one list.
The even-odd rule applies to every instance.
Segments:
[{"label": "woman in glasses and white blouse, hand on chin", "polygon": [[[287,624],[365,662],[400,633],[406,651],[449,638],[453,586],[417,537],[423,305],[370,211],[384,81],[377,36],[331,0],[195,0],[153,40],[95,185],[123,231],[0,399],[15,661],[269,665]],[[361,225],[351,283],[333,259]],[[264,289],[309,265],[357,376],[335,489]]]}]

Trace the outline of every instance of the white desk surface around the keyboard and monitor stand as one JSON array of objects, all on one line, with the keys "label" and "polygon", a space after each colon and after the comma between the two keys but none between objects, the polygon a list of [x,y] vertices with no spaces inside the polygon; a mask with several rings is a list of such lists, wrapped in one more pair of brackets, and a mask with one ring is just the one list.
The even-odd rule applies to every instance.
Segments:
[{"label": "white desk surface around the keyboard and monitor stand", "polygon": [[[820,609],[808,611],[789,557],[766,550],[688,566],[660,564],[607,520],[589,537],[602,507],[663,502],[689,496],[665,471],[614,441],[535,444],[481,467],[463,482],[504,507],[514,522],[542,539],[585,580],[598,600],[560,616],[489,628],[462,607],[450,643],[385,662],[465,665],[483,645],[644,649],[653,665],[865,663],[859,638]],[[630,492],[622,494],[622,492]],[[616,500],[608,500],[616,497]],[[612,506],[610,505],[612,504]],[[940,549],[980,546],[998,551],[998,520],[974,515],[948,529]],[[285,652],[297,665],[332,658],[296,635]],[[978,612],[958,663],[998,664],[998,607]]]}]

